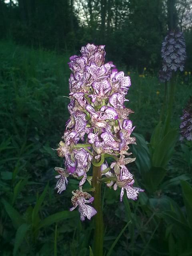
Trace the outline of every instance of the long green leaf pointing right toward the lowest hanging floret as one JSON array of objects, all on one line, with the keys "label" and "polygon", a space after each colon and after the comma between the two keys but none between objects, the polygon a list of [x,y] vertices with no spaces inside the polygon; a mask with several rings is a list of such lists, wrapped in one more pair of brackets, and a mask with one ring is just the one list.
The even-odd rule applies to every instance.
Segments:
[{"label": "long green leaf pointing right toward the lowest hanging floret", "polygon": [[42,220],[40,224],[38,225],[38,229],[42,228],[44,226],[49,226],[55,222],[59,222],[61,220],[67,220],[70,218],[74,218],[77,216],[77,212],[70,212],[70,211],[62,211],[62,212],[57,212],[55,214],[52,214]]}]

